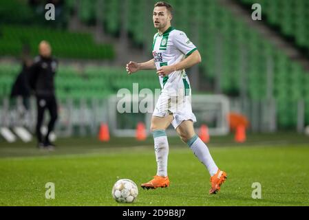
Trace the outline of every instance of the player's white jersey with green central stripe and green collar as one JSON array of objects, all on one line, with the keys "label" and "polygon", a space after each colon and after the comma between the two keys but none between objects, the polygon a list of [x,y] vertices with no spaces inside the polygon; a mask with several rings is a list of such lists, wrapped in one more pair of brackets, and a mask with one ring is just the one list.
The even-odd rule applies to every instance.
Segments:
[{"label": "player's white jersey with green central stripe and green collar", "polygon": [[[188,39],[187,35],[172,27],[161,35],[157,33],[153,36],[152,53],[157,69],[160,69],[164,65],[179,63],[195,50],[197,48]],[[184,69],[172,72],[169,76],[160,76],[159,80],[164,90],[178,89],[179,81],[184,83],[184,88],[189,89],[189,79]]]}]

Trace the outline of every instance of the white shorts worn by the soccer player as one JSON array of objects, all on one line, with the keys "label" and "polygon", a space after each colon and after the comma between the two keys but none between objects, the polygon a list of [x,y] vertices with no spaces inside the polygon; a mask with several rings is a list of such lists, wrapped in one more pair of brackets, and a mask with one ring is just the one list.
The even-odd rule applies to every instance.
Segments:
[{"label": "white shorts worn by the soccer player", "polygon": [[[168,84],[168,83],[167,83]],[[175,89],[164,86],[153,111],[153,116],[166,117],[173,114],[171,124],[176,129],[181,122],[191,120],[196,122],[191,106],[191,89]]]}]

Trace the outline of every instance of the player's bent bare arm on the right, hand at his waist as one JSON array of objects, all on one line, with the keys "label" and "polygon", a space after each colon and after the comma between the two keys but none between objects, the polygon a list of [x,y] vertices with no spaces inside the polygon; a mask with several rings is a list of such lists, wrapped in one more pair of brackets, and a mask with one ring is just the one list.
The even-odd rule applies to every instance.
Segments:
[{"label": "player's bent bare arm on the right, hand at his waist", "polygon": [[179,63],[170,65],[170,66],[162,66],[160,69],[158,69],[157,74],[159,76],[166,76],[166,75],[171,74],[172,72],[175,72],[181,69],[190,68],[193,65],[196,65],[201,62],[202,62],[202,58],[201,58],[200,52],[198,52],[198,50],[195,50],[192,54],[187,56],[187,58],[180,61]]}]

